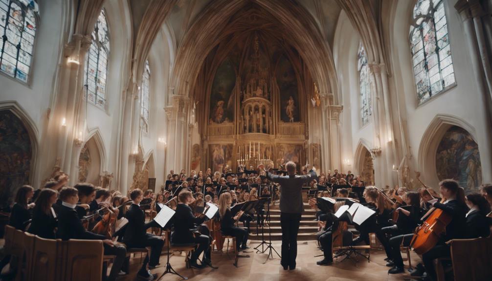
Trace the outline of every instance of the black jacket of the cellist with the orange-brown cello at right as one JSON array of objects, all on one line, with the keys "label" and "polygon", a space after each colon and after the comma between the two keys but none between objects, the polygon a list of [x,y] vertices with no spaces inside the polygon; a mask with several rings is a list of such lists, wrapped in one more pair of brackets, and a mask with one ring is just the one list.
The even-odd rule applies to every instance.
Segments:
[{"label": "black jacket of the cellist with the orange-brown cello at right", "polygon": [[466,224],[465,215],[468,211],[468,207],[466,207],[464,203],[460,203],[458,200],[451,200],[446,204],[436,202],[434,207],[439,208],[453,216],[451,223],[446,226],[446,234],[443,236],[444,242],[451,239],[463,238],[464,226]]}]

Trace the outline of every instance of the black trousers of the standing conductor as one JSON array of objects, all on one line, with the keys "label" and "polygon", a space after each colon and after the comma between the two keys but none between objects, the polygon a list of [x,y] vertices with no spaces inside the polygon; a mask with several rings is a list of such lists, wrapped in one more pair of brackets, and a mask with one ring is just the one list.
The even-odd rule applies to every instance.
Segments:
[{"label": "black trousers of the standing conductor", "polygon": [[297,233],[301,214],[280,213],[280,227],[282,228],[282,258],[280,264],[290,269],[296,267]]}]

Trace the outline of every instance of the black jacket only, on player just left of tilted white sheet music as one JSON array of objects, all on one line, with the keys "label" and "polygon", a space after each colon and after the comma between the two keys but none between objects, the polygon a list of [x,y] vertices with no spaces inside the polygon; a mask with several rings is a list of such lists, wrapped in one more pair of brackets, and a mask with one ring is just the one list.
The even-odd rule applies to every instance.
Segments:
[{"label": "black jacket only, on player just left of tilted white sheet music", "polygon": [[152,222],[145,224],[145,213],[137,204],[131,204],[124,217],[128,220],[125,225],[123,243],[132,245],[146,239],[147,228],[152,226]]}]

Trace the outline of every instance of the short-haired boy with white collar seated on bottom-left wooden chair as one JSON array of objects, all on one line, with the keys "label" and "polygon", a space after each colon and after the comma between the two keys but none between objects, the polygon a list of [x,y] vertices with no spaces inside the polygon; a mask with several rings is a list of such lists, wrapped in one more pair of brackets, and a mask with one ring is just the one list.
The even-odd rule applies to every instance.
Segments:
[{"label": "short-haired boy with white collar seated on bottom-left wooden chair", "polygon": [[[116,255],[107,280],[116,280],[126,257],[126,249],[123,246],[115,245],[113,241],[106,239],[104,235],[95,234],[84,229],[84,226],[77,215],[77,211],[75,211],[75,206],[79,201],[77,189],[73,187],[62,188],[60,191],[60,199],[62,200],[62,206],[58,213],[57,236],[63,240],[102,240],[104,243],[104,254]],[[105,275],[105,273],[103,274]]]}]

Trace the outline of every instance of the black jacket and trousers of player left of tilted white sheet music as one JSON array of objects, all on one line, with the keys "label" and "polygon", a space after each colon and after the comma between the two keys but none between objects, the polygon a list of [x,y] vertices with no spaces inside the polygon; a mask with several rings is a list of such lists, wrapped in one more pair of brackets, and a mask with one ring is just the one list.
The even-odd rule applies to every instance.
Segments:
[{"label": "black jacket and trousers of player left of tilted white sheet music", "polygon": [[128,211],[125,213],[125,218],[128,224],[125,226],[123,235],[123,243],[128,248],[145,248],[151,247],[151,256],[145,257],[142,268],[145,268],[147,262],[150,266],[155,266],[159,263],[160,253],[164,246],[164,241],[155,235],[147,233],[147,228],[154,225],[153,221],[145,223],[145,213],[137,204],[131,204]]}]

